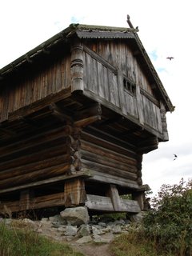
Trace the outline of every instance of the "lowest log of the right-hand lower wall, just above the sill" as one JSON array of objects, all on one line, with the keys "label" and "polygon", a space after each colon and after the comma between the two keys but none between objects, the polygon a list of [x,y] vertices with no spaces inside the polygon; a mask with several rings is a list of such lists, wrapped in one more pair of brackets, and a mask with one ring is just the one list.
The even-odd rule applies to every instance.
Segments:
[{"label": "lowest log of the right-hand lower wall, just above the sill", "polygon": [[136,181],[138,178],[137,174],[131,173],[128,170],[119,170],[118,168],[105,166],[100,163],[90,162],[82,159],[82,166],[90,170],[98,170],[101,173],[114,175],[116,178],[127,178],[132,181]]}]

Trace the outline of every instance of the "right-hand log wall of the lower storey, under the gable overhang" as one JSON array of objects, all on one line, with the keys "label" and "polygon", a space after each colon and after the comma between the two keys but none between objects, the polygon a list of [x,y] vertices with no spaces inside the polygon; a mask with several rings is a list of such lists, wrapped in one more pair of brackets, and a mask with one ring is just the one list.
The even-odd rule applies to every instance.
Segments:
[{"label": "right-hand log wall of the lower storey, under the gable overhang", "polygon": [[138,188],[141,175],[134,146],[126,149],[104,138],[82,132],[82,167],[94,174],[91,180]]}]

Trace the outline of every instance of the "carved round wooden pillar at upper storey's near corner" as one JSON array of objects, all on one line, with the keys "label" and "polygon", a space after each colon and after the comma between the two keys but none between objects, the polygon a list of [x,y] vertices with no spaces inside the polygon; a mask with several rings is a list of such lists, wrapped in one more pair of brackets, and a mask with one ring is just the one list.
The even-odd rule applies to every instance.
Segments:
[{"label": "carved round wooden pillar at upper storey's near corner", "polygon": [[81,42],[71,46],[71,91],[83,90],[83,54]]}]

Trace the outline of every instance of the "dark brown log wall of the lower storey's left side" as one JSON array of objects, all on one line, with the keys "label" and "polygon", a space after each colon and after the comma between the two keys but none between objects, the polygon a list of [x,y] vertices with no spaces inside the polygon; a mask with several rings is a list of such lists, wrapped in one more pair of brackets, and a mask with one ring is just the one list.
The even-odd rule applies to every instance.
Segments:
[{"label": "dark brown log wall of the lower storey's left side", "polygon": [[48,178],[72,171],[70,128],[63,126],[0,149],[0,192],[6,188],[44,184]]}]

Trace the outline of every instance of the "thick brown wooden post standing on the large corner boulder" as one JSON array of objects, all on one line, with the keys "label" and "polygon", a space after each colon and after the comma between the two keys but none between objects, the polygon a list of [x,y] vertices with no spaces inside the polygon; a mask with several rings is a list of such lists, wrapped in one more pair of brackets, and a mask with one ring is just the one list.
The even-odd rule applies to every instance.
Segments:
[{"label": "thick brown wooden post standing on the large corner boulder", "polygon": [[66,207],[79,206],[86,201],[85,182],[82,178],[75,178],[65,182],[64,204]]}]

